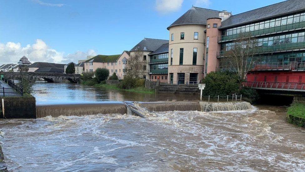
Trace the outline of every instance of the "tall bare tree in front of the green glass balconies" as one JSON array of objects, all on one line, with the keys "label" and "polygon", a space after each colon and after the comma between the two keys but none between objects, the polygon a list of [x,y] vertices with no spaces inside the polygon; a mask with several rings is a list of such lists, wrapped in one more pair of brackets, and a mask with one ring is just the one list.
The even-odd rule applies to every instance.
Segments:
[{"label": "tall bare tree in front of the green glass balconies", "polygon": [[253,65],[260,59],[257,55],[259,49],[257,39],[247,33],[239,34],[238,38],[232,42],[232,46],[224,51],[222,62],[228,63],[231,70],[243,81]]}]

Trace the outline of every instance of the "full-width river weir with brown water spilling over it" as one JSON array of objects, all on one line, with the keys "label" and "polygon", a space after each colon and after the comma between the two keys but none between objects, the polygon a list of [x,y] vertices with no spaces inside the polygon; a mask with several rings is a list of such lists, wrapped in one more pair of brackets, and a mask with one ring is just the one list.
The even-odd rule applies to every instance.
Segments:
[{"label": "full-width river weir with brown water spilling over it", "polygon": [[163,111],[235,111],[252,109],[248,102],[102,102],[91,104],[37,105],[36,117],[130,114],[146,117]]}]

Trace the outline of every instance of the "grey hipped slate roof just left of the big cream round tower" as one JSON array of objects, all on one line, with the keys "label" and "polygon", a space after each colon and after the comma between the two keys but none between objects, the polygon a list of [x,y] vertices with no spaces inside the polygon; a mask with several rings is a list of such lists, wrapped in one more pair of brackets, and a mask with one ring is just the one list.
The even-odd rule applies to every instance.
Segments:
[{"label": "grey hipped slate roof just left of the big cream round tower", "polygon": [[[154,51],[159,48],[162,44],[168,43],[168,40],[165,39],[152,39],[144,38],[136,46],[134,46],[130,51],[143,50],[143,51]],[[144,50],[146,47],[146,50]]]}]

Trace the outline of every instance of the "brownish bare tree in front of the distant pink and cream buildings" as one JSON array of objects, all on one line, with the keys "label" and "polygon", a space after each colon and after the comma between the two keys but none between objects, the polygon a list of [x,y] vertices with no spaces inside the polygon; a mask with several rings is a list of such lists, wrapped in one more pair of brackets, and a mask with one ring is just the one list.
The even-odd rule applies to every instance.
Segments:
[{"label": "brownish bare tree in front of the distant pink and cream buildings", "polygon": [[147,74],[146,66],[147,61],[143,59],[143,52],[140,50],[134,51],[130,59],[127,60],[126,64],[126,75],[131,77],[142,78],[143,75]]}]

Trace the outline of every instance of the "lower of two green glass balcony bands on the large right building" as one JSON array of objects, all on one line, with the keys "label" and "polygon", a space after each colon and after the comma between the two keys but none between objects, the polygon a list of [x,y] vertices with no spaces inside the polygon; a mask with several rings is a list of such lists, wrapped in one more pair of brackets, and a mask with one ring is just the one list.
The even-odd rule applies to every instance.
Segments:
[{"label": "lower of two green glass balcony bands on the large right building", "polygon": [[[305,50],[305,42],[262,46],[257,50],[256,54],[289,52],[289,51],[298,51],[298,50]],[[224,57],[224,53],[225,51],[217,51],[216,54],[217,58]]]}]

